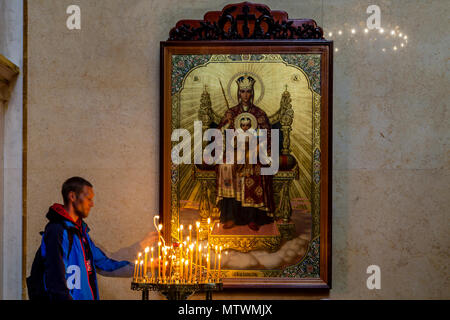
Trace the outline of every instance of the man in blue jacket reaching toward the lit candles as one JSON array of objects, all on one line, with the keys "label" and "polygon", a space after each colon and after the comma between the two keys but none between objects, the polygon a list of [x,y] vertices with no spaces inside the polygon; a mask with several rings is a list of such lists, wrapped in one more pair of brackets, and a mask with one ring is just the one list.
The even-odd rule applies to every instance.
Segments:
[{"label": "man in blue jacket reaching toward the lit candles", "polygon": [[51,300],[98,300],[96,269],[114,271],[130,262],[109,259],[89,237],[83,219],[94,206],[92,184],[72,177],[62,196],[64,205],[55,203],[47,213],[40,248],[45,291]]}]

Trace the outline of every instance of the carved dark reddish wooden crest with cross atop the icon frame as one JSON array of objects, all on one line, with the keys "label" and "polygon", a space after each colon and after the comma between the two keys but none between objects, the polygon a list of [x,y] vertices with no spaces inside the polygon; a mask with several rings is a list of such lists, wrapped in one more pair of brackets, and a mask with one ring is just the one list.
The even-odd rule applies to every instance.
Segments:
[{"label": "carved dark reddish wooden crest with cross atop the icon frame", "polygon": [[168,40],[275,39],[323,39],[323,30],[312,19],[288,19],[285,11],[242,2],[227,5],[222,11],[207,12],[203,20],[178,21]]}]

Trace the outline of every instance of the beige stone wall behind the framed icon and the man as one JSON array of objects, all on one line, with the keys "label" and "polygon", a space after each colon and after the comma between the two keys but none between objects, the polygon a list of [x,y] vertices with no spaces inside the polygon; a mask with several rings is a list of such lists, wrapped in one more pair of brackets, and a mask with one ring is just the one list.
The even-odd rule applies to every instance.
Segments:
[{"label": "beige stone wall behind the framed icon and the man", "polygon": [[[218,297],[450,298],[449,6],[378,2],[382,26],[408,35],[402,50],[349,36],[364,28],[371,1],[264,2],[327,33],[345,30],[332,37],[333,289]],[[158,210],[159,41],[178,20],[227,3],[80,0],[81,30],[69,31],[72,1],[29,1],[27,273],[45,213],[73,175],[94,184],[87,222],[98,245],[124,257],[145,238]],[[371,264],[381,290],[366,288]],[[104,299],[139,298],[129,279],[99,282]]]}]

